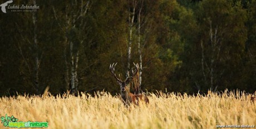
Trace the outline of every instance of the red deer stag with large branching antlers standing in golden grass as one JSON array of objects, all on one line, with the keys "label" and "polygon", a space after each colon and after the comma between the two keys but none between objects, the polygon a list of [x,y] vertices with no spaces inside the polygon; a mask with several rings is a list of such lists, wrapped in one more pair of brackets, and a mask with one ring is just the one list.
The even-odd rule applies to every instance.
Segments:
[{"label": "red deer stag with large branching antlers standing in golden grass", "polygon": [[137,72],[139,71],[139,64],[135,64],[134,66],[136,68],[135,72],[132,71],[132,76],[127,77],[125,81],[122,81],[120,76],[119,78],[116,77],[116,74],[114,73],[115,67],[117,63],[110,64],[110,72],[112,75],[116,78],[116,82],[120,85],[121,88],[121,98],[122,102],[124,102],[124,105],[130,105],[130,103],[134,103],[135,105],[138,105],[139,101],[142,100],[145,103],[149,103],[149,98],[146,96],[139,94],[139,95],[134,95],[130,93],[130,86],[131,86],[131,81],[132,79],[137,75]]}]

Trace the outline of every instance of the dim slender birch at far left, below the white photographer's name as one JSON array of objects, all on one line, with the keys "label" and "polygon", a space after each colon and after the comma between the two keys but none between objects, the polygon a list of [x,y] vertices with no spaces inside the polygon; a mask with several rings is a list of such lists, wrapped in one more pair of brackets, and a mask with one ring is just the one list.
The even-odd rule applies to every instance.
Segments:
[{"label": "dim slender birch at far left, below the white photographer's name", "polygon": [[[36,0],[31,1],[34,5],[37,4]],[[30,82],[32,82],[32,87],[33,89],[36,91],[35,93],[37,95],[40,95],[42,93],[43,90],[43,86],[40,83],[40,63],[42,60],[42,48],[40,48],[39,44],[40,41],[38,41],[38,18],[37,18],[37,11],[33,10],[32,15],[31,15],[31,19],[32,19],[32,32],[31,35],[29,34],[24,34],[24,31],[21,28],[21,25],[19,25],[17,22],[15,23],[16,27],[17,27],[17,31],[19,33],[19,36],[21,38],[21,40],[17,40],[17,50],[18,53],[21,55],[24,64],[27,67],[28,72],[23,72],[21,71],[21,74],[26,76],[26,78],[28,78],[28,80]],[[25,45],[26,44],[26,45]],[[28,46],[29,48],[29,55],[31,55],[31,57],[28,57],[23,51],[22,46]]]}]

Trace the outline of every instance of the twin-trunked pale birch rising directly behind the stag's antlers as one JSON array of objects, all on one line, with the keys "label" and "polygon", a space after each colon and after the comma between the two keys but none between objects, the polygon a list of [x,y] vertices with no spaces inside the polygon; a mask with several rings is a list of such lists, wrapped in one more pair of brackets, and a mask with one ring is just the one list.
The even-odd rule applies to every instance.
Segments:
[{"label": "twin-trunked pale birch rising directly behind the stag's antlers", "polygon": [[[128,56],[127,56],[127,71],[126,77],[129,77],[130,63],[131,63],[131,54],[132,54],[132,42],[137,43],[137,57],[134,57],[134,60],[139,61],[139,77],[138,83],[139,88],[135,90],[135,94],[140,94],[141,92],[141,83],[142,83],[142,49],[145,46],[146,38],[151,28],[151,24],[147,21],[149,16],[144,12],[142,13],[142,8],[144,8],[144,0],[132,1],[132,9],[129,13],[129,43],[128,43]],[[135,19],[136,17],[136,19]],[[143,26],[143,28],[142,28]],[[142,31],[142,29],[144,31]],[[135,30],[135,32],[133,32]],[[136,41],[133,39],[136,38]],[[135,48],[136,49],[136,48]],[[133,51],[134,53],[136,51]]]}]

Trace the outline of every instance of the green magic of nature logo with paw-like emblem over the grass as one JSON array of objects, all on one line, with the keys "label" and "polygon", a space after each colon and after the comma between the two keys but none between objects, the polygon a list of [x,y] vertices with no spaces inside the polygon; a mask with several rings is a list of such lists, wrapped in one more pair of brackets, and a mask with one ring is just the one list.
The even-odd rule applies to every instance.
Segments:
[{"label": "green magic of nature logo with paw-like emblem over the grass", "polygon": [[16,128],[20,128],[20,127],[48,127],[48,122],[22,122],[19,121],[18,119],[15,118],[14,116],[2,116],[1,117],[1,123],[3,123],[3,126],[5,127],[16,127]]}]

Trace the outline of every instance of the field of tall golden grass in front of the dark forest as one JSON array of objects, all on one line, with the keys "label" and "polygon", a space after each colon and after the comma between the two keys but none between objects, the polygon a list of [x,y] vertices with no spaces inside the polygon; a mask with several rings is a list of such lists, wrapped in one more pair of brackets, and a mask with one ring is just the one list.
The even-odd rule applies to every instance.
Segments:
[{"label": "field of tall golden grass in front of the dark forest", "polygon": [[[228,94],[229,93],[229,94]],[[126,108],[118,96],[97,92],[96,97],[1,97],[0,116],[18,121],[48,122],[48,128],[216,128],[216,125],[256,125],[254,94],[188,96],[149,94],[149,105]],[[235,97],[237,96],[237,97]],[[1,123],[0,128],[4,127]]]}]

